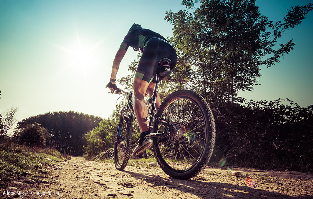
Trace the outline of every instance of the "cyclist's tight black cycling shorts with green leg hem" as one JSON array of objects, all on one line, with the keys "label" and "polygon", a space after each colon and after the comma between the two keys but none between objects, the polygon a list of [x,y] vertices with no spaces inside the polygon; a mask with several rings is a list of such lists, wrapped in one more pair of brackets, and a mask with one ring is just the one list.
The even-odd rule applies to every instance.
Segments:
[{"label": "cyclist's tight black cycling shorts with green leg hem", "polygon": [[[171,71],[176,65],[177,55],[175,49],[165,40],[151,38],[144,47],[143,53],[135,73],[135,77],[155,83],[156,69],[162,58],[171,60]],[[154,78],[154,79],[153,79]],[[160,76],[160,80],[164,77]]]}]

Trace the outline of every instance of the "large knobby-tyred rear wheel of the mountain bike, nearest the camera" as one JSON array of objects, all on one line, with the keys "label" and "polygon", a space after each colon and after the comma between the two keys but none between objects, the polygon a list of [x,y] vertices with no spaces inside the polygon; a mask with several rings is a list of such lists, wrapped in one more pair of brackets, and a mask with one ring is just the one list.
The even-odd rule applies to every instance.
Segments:
[{"label": "large knobby-tyred rear wheel of the mountain bike, nearest the camera", "polygon": [[153,150],[162,170],[169,176],[190,179],[204,169],[215,143],[215,123],[208,103],[198,93],[180,90],[162,102],[153,133]]}]

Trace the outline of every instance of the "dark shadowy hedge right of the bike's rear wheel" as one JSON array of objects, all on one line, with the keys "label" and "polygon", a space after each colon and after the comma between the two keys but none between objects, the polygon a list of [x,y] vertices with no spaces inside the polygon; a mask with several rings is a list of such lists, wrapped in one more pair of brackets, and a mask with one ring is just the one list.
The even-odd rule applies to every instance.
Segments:
[{"label": "dark shadowy hedge right of the bike's rear wheel", "polygon": [[310,170],[313,106],[303,108],[290,99],[245,105],[235,103],[214,112],[215,161],[224,156],[237,166]]}]

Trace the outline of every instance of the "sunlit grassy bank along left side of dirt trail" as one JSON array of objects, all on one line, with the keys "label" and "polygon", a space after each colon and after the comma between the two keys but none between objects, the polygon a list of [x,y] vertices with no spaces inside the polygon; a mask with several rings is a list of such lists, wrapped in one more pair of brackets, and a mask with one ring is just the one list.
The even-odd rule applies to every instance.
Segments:
[{"label": "sunlit grassy bank along left side of dirt trail", "polygon": [[57,165],[65,158],[54,149],[31,148],[15,143],[0,144],[0,179],[10,180],[19,177],[48,182],[47,165]]}]

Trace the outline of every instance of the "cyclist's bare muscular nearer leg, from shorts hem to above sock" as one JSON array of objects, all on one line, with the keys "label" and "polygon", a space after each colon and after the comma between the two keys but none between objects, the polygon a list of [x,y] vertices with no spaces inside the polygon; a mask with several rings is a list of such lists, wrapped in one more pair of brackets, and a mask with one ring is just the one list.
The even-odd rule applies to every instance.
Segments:
[{"label": "cyclist's bare muscular nearer leg, from shorts hem to above sock", "polygon": [[134,78],[134,111],[141,133],[148,131],[148,108],[144,100],[148,86],[149,82],[141,80],[137,77]]}]

